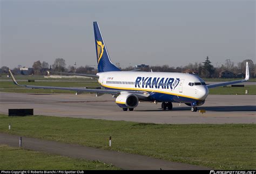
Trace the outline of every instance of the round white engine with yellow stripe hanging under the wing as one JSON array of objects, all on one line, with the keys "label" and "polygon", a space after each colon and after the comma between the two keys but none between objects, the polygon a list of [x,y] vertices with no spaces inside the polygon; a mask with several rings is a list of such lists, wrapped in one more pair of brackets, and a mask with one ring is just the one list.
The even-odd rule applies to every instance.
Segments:
[{"label": "round white engine with yellow stripe hanging under the wing", "polygon": [[117,96],[116,103],[121,108],[136,108],[139,99],[134,94],[123,93]]}]

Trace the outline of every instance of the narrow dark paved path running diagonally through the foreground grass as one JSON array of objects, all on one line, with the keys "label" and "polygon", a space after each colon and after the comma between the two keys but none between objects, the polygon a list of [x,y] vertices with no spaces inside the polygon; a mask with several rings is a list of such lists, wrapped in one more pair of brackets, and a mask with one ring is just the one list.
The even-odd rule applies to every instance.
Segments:
[{"label": "narrow dark paved path running diagonally through the foreground grass", "polygon": [[[19,147],[19,136],[0,133],[0,144]],[[99,160],[126,170],[209,170],[204,166],[176,163],[155,159],[147,156],[125,154],[123,152],[83,147],[76,144],[66,144],[36,138],[22,137],[22,147],[49,154],[57,154],[72,158]]]}]

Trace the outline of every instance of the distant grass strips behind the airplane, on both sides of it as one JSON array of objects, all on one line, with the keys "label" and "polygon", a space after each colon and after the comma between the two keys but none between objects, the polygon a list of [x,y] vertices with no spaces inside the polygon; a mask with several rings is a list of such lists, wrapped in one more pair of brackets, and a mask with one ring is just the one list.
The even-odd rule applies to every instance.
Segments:
[{"label": "distant grass strips behind the airplane, on both sides of it", "polygon": [[[59,87],[99,87],[97,81],[36,81],[26,82],[20,81],[23,85],[37,85],[37,86],[59,86]],[[247,85],[245,87],[217,87],[211,88],[209,94],[256,94],[256,85]],[[14,85],[12,81],[1,81],[0,92],[14,92],[14,93],[75,93],[73,91],[57,90],[57,89],[29,89]]]}]

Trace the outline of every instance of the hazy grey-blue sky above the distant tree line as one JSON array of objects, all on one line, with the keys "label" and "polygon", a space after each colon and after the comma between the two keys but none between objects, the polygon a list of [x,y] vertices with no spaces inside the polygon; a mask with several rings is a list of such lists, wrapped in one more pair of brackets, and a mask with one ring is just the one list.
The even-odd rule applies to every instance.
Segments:
[{"label": "hazy grey-blue sky above the distant tree line", "polygon": [[255,62],[255,1],[0,0],[0,67],[95,66],[97,21],[121,67]]}]

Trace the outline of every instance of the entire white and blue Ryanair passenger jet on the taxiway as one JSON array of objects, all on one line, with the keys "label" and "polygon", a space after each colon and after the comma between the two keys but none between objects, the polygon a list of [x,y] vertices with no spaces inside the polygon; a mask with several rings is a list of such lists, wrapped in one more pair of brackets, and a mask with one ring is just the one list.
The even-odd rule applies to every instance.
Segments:
[{"label": "entire white and blue Ryanair passenger jet on the taxiway", "polygon": [[98,73],[76,74],[93,78],[98,78],[98,82],[103,89],[87,89],[74,87],[52,87],[52,86],[31,86],[19,85],[12,75],[10,75],[15,85],[35,88],[35,89],[62,89],[75,92],[93,92],[96,96],[102,94],[112,94],[116,98],[119,107],[126,110],[133,110],[142,102],[162,102],[161,108],[172,109],[172,102],[185,103],[191,106],[191,111],[196,112],[197,106],[203,105],[208,95],[208,88],[231,85],[234,83],[249,80],[248,62],[246,62],[245,79],[229,82],[206,85],[204,80],[197,75],[185,73],[165,73],[165,72],[136,72],[121,71],[113,65],[110,60],[107,48],[104,43],[102,33],[97,22],[93,22],[95,33],[95,45],[97,53]]}]

